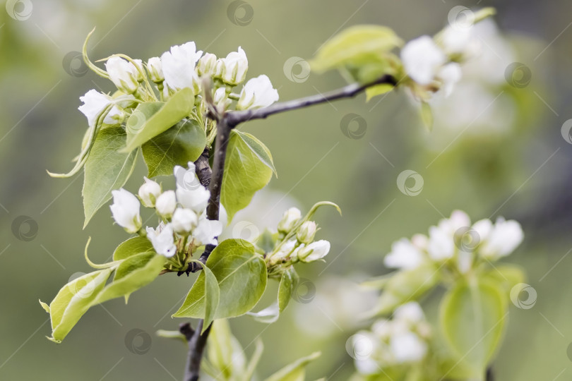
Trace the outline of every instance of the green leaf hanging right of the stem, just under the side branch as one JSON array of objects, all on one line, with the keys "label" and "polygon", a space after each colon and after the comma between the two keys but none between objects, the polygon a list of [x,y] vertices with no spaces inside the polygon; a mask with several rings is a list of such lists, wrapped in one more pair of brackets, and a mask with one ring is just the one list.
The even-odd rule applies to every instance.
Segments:
[{"label": "green leaf hanging right of the stem, just under the side branch", "polygon": [[253,135],[232,130],[220,194],[229,222],[236,212],[249,205],[256,191],[268,184],[273,172],[276,173],[268,148]]}]

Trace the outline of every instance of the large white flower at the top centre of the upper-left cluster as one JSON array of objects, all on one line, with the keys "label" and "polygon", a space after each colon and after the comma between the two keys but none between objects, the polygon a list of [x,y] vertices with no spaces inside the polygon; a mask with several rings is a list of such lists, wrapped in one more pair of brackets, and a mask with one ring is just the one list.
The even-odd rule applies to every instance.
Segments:
[{"label": "large white flower at the top centre of the upper-left cluster", "polygon": [[170,52],[163,53],[161,55],[162,71],[167,85],[174,90],[190,87],[197,95],[200,87],[195,66],[202,54],[202,50],[196,51],[194,42],[175,45],[171,47]]}]

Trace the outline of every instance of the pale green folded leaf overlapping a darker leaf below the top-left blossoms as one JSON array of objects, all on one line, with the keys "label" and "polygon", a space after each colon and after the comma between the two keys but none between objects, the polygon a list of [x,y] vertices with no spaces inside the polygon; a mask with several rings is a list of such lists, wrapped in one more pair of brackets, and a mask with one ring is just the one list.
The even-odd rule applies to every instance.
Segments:
[{"label": "pale green folded leaf overlapping a darker leaf below the top-left blossoms", "polygon": [[163,102],[141,103],[129,116],[126,123],[127,146],[131,152],[148,140],[179,123],[193,111],[195,96],[193,90],[185,87]]}]

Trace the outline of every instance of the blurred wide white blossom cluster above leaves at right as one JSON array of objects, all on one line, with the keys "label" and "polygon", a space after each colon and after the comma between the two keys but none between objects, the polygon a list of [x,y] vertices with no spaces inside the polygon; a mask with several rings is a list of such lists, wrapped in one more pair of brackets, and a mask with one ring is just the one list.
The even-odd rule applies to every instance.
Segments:
[{"label": "blurred wide white blossom cluster above leaves at right", "polygon": [[493,224],[481,219],[471,225],[469,216],[455,210],[451,218],[441,219],[429,228],[429,236],[415,234],[411,240],[402,238],[386,255],[386,267],[412,270],[428,262],[450,262],[465,274],[480,259],[498,260],[509,255],[523,241],[520,224],[499,217]]}]

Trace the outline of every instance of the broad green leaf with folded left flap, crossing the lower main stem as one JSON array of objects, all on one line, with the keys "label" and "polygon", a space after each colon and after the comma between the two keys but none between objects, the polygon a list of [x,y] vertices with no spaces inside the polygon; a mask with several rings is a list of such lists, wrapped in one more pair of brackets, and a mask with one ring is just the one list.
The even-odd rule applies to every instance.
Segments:
[{"label": "broad green leaf with folded left flap, crossing the lower main stem", "polygon": [[[266,289],[266,263],[254,246],[242,239],[222,241],[206,262],[220,289],[215,319],[244,315],[256,306]],[[201,279],[202,277],[202,279]],[[173,317],[205,316],[205,282],[200,274]]]}]

